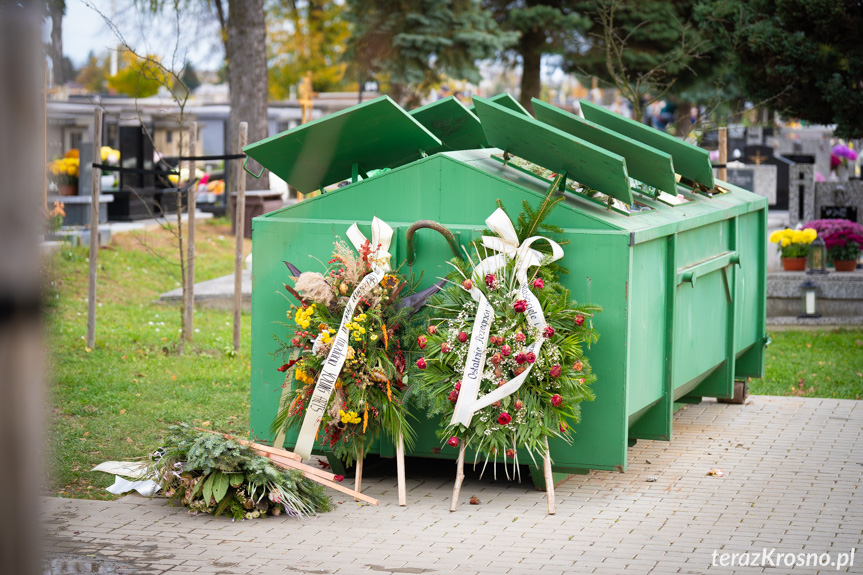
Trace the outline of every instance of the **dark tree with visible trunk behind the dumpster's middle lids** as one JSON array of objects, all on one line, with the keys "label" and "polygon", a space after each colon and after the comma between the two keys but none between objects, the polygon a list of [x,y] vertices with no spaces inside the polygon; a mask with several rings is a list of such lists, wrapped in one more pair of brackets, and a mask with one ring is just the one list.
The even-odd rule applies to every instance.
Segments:
[{"label": "dark tree with visible trunk behind the dumpster's middle lids", "polygon": [[530,100],[538,98],[542,89],[542,57],[573,50],[575,39],[590,26],[590,21],[566,0],[484,0],[483,7],[491,11],[503,30],[518,34],[518,42],[510,50],[522,63],[519,100],[532,112]]}]

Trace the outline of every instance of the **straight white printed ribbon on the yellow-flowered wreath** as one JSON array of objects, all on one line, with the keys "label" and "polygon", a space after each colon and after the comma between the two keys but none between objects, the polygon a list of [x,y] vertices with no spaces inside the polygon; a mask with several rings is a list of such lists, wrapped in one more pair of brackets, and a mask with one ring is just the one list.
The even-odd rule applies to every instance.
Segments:
[{"label": "straight white printed ribbon on the yellow-flowered wreath", "polygon": [[[348,238],[354,247],[359,250],[366,242],[366,237],[360,232],[357,224],[353,224],[347,232]],[[330,396],[335,388],[336,380],[342,371],[342,366],[345,364],[348,351],[348,328],[354,317],[354,310],[360,300],[372,290],[384,278],[384,275],[390,270],[390,243],[392,242],[393,229],[383,220],[375,217],[372,220],[372,254],[369,256],[369,261],[372,264],[372,271],[360,280],[360,283],[354,289],[351,297],[348,298],[348,303],[345,305],[345,311],[342,312],[342,323],[339,325],[339,330],[336,332],[335,338],[332,340],[332,347],[327,354],[327,359],[324,361],[324,366],[321,369],[321,374],[318,376],[318,381],[315,382],[315,390],[312,393],[312,398],[309,400],[309,407],[306,410],[306,415],[303,418],[303,424],[300,427],[300,434],[297,436],[297,445],[294,447],[294,453],[308,459],[312,455],[312,447],[315,444],[315,437],[318,434],[318,428],[321,426],[321,420],[327,410],[327,404],[330,401]]]}]

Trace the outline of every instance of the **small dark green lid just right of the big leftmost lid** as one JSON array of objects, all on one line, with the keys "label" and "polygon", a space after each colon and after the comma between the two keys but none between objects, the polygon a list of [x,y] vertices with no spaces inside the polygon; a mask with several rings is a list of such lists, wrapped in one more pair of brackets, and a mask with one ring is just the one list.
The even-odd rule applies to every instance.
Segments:
[{"label": "small dark green lid just right of the big leftmost lid", "polygon": [[441,146],[427,149],[429,154],[488,146],[479,118],[455,96],[411,110],[410,115],[442,142]]}]

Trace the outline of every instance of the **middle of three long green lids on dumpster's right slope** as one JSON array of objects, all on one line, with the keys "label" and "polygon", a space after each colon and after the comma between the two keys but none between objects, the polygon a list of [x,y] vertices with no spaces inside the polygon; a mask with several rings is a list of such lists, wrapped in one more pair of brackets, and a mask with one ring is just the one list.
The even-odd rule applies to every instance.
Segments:
[{"label": "middle of three long green lids on dumpster's right slope", "polygon": [[532,101],[537,120],[623,156],[626,158],[626,169],[630,176],[663,192],[677,195],[671,154],[651,148],[542,100],[534,98]]}]

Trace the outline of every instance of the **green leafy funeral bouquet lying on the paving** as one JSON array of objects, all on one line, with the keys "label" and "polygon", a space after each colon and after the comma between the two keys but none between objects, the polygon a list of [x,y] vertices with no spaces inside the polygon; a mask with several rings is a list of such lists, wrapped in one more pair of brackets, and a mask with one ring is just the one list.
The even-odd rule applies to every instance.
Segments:
[{"label": "green leafy funeral bouquet lying on the paving", "polygon": [[221,435],[173,426],[166,445],[155,454],[152,475],[171,502],[191,513],[243,520],[282,513],[303,517],[333,508],[323,486],[302,471],[280,469]]}]

